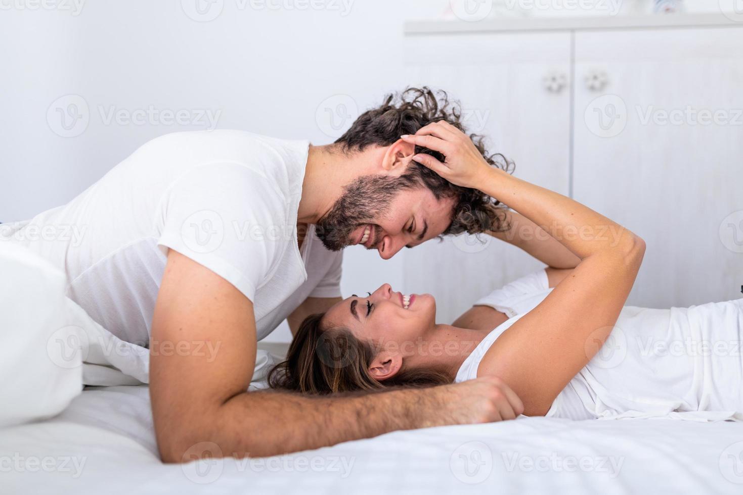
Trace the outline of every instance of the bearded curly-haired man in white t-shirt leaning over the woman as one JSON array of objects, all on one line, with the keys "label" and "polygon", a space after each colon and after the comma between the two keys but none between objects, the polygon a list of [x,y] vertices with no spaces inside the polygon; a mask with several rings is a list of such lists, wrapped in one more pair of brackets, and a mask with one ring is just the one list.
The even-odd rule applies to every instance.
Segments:
[{"label": "bearded curly-haired man in white t-shirt leaning over the woman", "polygon": [[[437,154],[400,139],[441,119],[459,125],[445,94],[424,88],[389,97],[334,145],[241,131],[169,134],[13,237],[65,270],[68,296],[95,321],[149,345],[166,462],[189,460],[201,442],[219,455],[267,456],[511,419],[519,400],[493,379],[373,399],[246,392],[256,341],[340,299],[343,247],[362,243],[387,259],[440,235],[502,229],[505,214],[490,197],[415,163],[416,152]],[[50,225],[85,235],[77,245],[24,235]],[[218,352],[196,352],[204,343]],[[160,352],[166,346],[177,352]]]}]

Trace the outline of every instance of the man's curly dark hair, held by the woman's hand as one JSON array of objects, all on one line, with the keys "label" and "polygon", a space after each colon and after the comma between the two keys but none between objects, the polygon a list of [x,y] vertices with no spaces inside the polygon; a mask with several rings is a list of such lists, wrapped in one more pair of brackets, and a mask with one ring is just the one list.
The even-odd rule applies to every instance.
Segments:
[{"label": "man's curly dark hair, held by the woman's hand", "polygon": [[[369,145],[389,146],[403,134],[415,134],[418,129],[444,120],[466,133],[461,122],[462,111],[458,102],[450,101],[446,91],[432,91],[422,88],[407,88],[400,94],[389,94],[377,108],[361,114],[343,136],[336,140],[343,151],[363,151]],[[494,167],[513,171],[513,162],[500,153],[489,154],[484,139],[478,134],[470,134],[470,139],[482,157]],[[422,146],[415,146],[415,153],[426,153],[444,161],[444,155]],[[478,191],[455,186],[430,168],[412,162],[400,177],[410,184],[423,184],[432,191],[436,199],[455,197],[452,221],[444,235],[457,235],[462,232],[479,234],[481,232],[501,232],[508,229],[504,222],[504,206],[499,200]]]}]

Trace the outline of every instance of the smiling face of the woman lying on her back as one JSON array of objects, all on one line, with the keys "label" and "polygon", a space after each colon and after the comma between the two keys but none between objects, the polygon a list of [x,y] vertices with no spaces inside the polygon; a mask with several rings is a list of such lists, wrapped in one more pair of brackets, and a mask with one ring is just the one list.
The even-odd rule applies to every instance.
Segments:
[{"label": "smiling face of the woman lying on her back", "polygon": [[[325,324],[345,327],[360,340],[396,347],[410,355],[435,326],[436,301],[430,294],[403,295],[385,283],[369,297],[352,296],[328,309]],[[409,351],[406,349],[410,349]]]}]

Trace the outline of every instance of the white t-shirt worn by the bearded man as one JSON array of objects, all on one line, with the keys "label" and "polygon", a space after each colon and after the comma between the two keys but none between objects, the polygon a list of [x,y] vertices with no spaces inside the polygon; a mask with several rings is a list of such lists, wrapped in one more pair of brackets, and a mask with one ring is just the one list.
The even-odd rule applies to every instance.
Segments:
[{"label": "white t-shirt worn by the bearded man", "polygon": [[253,301],[260,340],[305,298],[340,296],[341,253],[313,226],[297,243],[308,146],[244,131],[167,134],[67,205],[0,225],[0,238],[62,269],[69,298],[140,345],[175,249]]}]

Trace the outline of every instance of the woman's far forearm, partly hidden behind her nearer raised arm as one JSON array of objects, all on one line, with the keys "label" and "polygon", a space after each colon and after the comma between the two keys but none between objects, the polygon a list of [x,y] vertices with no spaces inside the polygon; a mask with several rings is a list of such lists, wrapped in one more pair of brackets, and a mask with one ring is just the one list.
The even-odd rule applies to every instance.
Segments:
[{"label": "woman's far forearm, partly hidden behind her nearer raised arm", "polygon": [[505,232],[489,232],[497,239],[523,249],[537,260],[554,268],[575,268],[580,258],[559,243],[545,229],[522,214],[507,211],[506,222],[511,228]]}]

